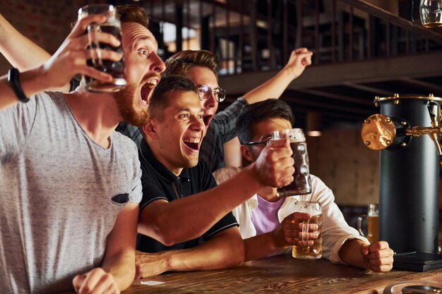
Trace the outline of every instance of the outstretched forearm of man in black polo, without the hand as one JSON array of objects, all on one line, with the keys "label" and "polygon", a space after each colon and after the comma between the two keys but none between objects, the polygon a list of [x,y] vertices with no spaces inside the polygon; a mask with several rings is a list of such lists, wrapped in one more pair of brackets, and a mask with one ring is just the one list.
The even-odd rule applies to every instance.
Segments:
[{"label": "outstretched forearm of man in black polo, without the hand", "polygon": [[153,202],[143,209],[138,230],[165,245],[198,238],[262,188],[253,175],[251,169],[244,169],[225,183],[191,197]]}]

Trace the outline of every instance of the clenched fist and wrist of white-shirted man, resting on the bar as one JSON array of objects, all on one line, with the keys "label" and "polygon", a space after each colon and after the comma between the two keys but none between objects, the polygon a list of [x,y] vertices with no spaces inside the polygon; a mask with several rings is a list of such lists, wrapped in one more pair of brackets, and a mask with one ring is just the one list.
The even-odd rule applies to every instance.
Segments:
[{"label": "clenched fist and wrist of white-shirted man, resting on the bar", "polygon": [[390,271],[393,268],[393,253],[385,241],[366,245],[357,239],[345,241],[339,250],[342,262],[371,271]]}]

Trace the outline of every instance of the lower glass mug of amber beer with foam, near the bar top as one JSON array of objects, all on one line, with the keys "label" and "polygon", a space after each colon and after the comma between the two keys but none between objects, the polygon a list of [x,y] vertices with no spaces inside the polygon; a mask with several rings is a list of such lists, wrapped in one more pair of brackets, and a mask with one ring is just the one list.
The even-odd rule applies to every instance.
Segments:
[{"label": "lower glass mug of amber beer with foam, near the bar top", "polygon": [[[297,245],[292,247],[292,256],[299,259],[318,259],[322,257],[322,207],[316,201],[297,201],[294,212],[306,212],[309,219],[297,219],[301,224],[302,232],[296,239]],[[317,230],[311,228],[318,225]]]}]

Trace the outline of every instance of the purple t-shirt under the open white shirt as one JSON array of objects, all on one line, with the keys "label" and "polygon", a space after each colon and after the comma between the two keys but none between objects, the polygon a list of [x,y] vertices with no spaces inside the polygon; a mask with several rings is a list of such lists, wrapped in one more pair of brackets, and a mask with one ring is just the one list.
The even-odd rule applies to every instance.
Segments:
[{"label": "purple t-shirt under the open white shirt", "polygon": [[277,200],[277,202],[268,202],[261,196],[257,196],[258,207],[253,209],[251,221],[256,228],[256,235],[261,235],[273,231],[280,224],[277,219],[277,212],[284,203],[284,198]]}]

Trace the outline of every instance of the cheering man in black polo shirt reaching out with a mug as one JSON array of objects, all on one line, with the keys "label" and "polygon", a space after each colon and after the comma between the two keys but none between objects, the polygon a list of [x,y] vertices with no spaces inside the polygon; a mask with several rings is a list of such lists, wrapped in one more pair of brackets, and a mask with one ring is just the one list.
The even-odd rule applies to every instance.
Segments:
[{"label": "cheering man in black polo shirt reaching out with a mug", "polygon": [[275,141],[255,163],[216,186],[205,163],[198,163],[205,126],[195,90],[191,80],[172,75],[150,98],[139,154],[138,277],[242,264],[244,243],[230,211],[265,185],[293,180],[288,142]]}]

